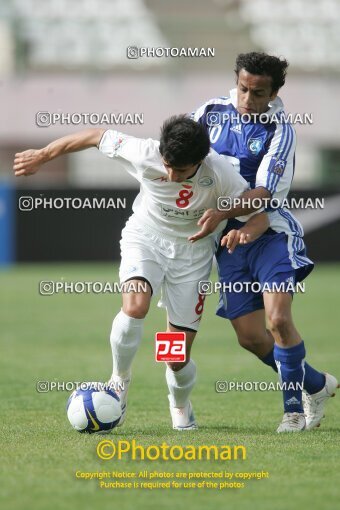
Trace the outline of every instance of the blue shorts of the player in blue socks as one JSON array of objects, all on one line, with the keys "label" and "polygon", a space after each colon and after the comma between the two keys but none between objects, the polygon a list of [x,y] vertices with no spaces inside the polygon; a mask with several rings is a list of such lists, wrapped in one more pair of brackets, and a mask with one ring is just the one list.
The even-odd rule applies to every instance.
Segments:
[{"label": "blue shorts of the player in blue socks", "polygon": [[[216,260],[222,289],[216,315],[232,320],[261,310],[264,308],[263,286],[266,290],[273,284],[295,285],[304,280],[314,264],[306,257],[304,244],[295,258],[289,252],[288,244],[286,234],[269,229],[256,241],[238,245],[232,254],[226,248],[219,247]],[[299,261],[300,267],[296,267],[295,260]],[[258,283],[251,285],[253,282]],[[237,285],[230,285],[235,283]]]}]

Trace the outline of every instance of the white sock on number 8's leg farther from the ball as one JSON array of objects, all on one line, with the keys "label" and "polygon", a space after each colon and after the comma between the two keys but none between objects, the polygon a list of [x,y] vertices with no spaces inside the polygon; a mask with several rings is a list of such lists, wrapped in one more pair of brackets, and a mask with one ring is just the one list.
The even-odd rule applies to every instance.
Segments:
[{"label": "white sock on number 8's leg farther from the ball", "polygon": [[196,382],[196,365],[191,359],[185,367],[174,372],[166,368],[166,382],[169,388],[169,402],[172,407],[185,407]]}]

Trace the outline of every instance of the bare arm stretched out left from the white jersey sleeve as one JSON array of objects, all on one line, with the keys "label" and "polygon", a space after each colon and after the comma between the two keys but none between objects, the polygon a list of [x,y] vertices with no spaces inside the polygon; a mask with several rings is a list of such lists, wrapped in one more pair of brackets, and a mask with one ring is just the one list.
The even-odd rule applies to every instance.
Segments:
[{"label": "bare arm stretched out left from the white jersey sleeve", "polygon": [[40,169],[41,165],[58,156],[96,147],[104,132],[105,129],[84,129],[58,138],[58,140],[54,140],[42,149],[28,149],[24,152],[17,152],[14,156],[14,174],[17,177],[33,175]]}]

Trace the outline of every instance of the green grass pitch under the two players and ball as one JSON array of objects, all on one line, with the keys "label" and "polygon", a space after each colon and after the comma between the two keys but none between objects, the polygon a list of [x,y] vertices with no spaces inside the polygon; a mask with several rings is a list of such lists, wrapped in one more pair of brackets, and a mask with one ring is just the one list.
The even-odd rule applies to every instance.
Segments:
[{"label": "green grass pitch under the two players and ball", "polygon": [[[103,461],[102,437],[73,431],[67,392],[38,393],[36,382],[106,380],[111,370],[109,331],[118,295],[40,296],[39,280],[115,281],[108,264],[23,265],[0,273],[1,288],[1,484],[6,510],[70,508],[195,510],[334,509],[340,499],[340,395],[332,399],[320,429],[277,435],[282,417],[279,392],[215,393],[216,380],[276,381],[276,374],[238,347],[229,323],[215,317],[216,296],[206,300],[193,348],[198,381],[192,395],[199,430],[170,428],[164,366],[154,361],[154,333],[165,316],[153,303],[133,366],[127,421],[112,440],[136,439],[148,446],[237,445],[245,461]],[[307,357],[320,370],[340,376],[340,265],[319,265],[294,298],[294,317]],[[244,489],[100,489],[76,471],[268,471],[269,479]]]}]

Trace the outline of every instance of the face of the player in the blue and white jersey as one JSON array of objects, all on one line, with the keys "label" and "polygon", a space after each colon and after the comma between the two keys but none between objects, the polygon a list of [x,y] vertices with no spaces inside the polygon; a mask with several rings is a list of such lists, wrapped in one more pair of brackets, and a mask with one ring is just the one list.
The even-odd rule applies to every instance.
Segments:
[{"label": "face of the player in the blue and white jersey", "polygon": [[275,99],[270,76],[250,74],[241,69],[237,80],[237,111],[241,114],[261,114],[268,110],[268,103]]}]

